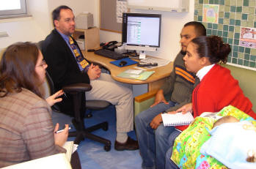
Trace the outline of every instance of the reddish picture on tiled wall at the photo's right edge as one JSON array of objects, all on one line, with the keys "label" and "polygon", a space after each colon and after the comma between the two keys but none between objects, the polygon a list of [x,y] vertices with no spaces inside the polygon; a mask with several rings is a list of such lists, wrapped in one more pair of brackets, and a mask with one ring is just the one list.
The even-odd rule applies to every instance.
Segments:
[{"label": "reddish picture on tiled wall at the photo's right edge", "polygon": [[241,27],[239,45],[256,48],[256,28]]}]

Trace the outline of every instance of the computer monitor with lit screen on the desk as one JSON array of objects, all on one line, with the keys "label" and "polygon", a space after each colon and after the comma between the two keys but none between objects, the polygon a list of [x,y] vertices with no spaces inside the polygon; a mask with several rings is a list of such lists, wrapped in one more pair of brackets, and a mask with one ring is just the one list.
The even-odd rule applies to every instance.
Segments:
[{"label": "computer monitor with lit screen on the desk", "polygon": [[122,14],[122,43],[127,50],[139,50],[139,59],[146,51],[160,47],[161,15],[145,13]]}]

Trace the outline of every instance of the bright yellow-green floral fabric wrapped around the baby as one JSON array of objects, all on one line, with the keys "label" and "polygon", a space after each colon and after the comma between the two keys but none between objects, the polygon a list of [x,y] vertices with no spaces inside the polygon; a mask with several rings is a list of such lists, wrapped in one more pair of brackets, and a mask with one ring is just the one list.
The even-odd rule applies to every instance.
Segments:
[{"label": "bright yellow-green floral fabric wrapped around the baby", "polygon": [[[223,108],[218,116],[234,116],[240,121],[251,121],[256,127],[256,121],[246,113],[229,105]],[[209,131],[216,119],[211,117],[197,117],[187,129],[180,133],[175,140],[172,151],[172,161],[179,168],[227,168],[211,156],[200,154],[200,148],[206,140],[211,138]]]}]

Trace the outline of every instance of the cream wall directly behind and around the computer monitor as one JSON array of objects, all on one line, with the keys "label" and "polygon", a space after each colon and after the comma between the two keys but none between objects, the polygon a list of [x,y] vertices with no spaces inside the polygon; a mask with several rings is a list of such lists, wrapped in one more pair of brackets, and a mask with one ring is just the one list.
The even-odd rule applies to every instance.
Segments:
[{"label": "cream wall directly behind and around the computer monitor", "polygon": [[[131,10],[131,12],[160,13],[162,15],[161,48],[156,52],[147,52],[148,55],[169,59],[171,61],[175,59],[175,56],[180,51],[180,31],[185,23],[194,20],[194,0],[191,0],[189,3],[189,12],[183,13]],[[108,42],[111,40],[120,42],[122,36],[121,34],[110,31],[100,31],[100,42]]]}]

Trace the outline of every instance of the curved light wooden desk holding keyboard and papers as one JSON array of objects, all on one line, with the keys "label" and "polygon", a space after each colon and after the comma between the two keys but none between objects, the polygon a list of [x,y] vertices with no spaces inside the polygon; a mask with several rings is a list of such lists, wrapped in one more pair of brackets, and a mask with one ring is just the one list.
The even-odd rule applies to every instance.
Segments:
[{"label": "curved light wooden desk holding keyboard and papers", "polygon": [[[133,64],[127,67],[117,67],[114,64],[109,63],[110,61],[114,61],[114,59],[109,59],[103,56],[99,56],[93,52],[83,51],[83,54],[84,54],[84,57],[88,59],[88,61],[101,64],[103,67],[109,70],[109,72],[111,72],[111,78],[113,78],[114,80],[120,81],[122,83],[130,83],[130,84],[148,83],[148,91],[152,91],[153,89],[159,89],[162,83],[164,83],[164,78],[167,78],[172,72],[172,62],[170,62],[164,67],[157,67],[157,68],[151,69],[151,70],[155,70],[156,72],[153,75],[151,75],[150,78],[147,78],[147,80],[120,78],[120,77],[117,77],[117,75],[119,75],[120,72],[123,72],[128,69],[134,69],[136,64]],[[138,61],[138,60],[134,59],[134,61]]]}]

